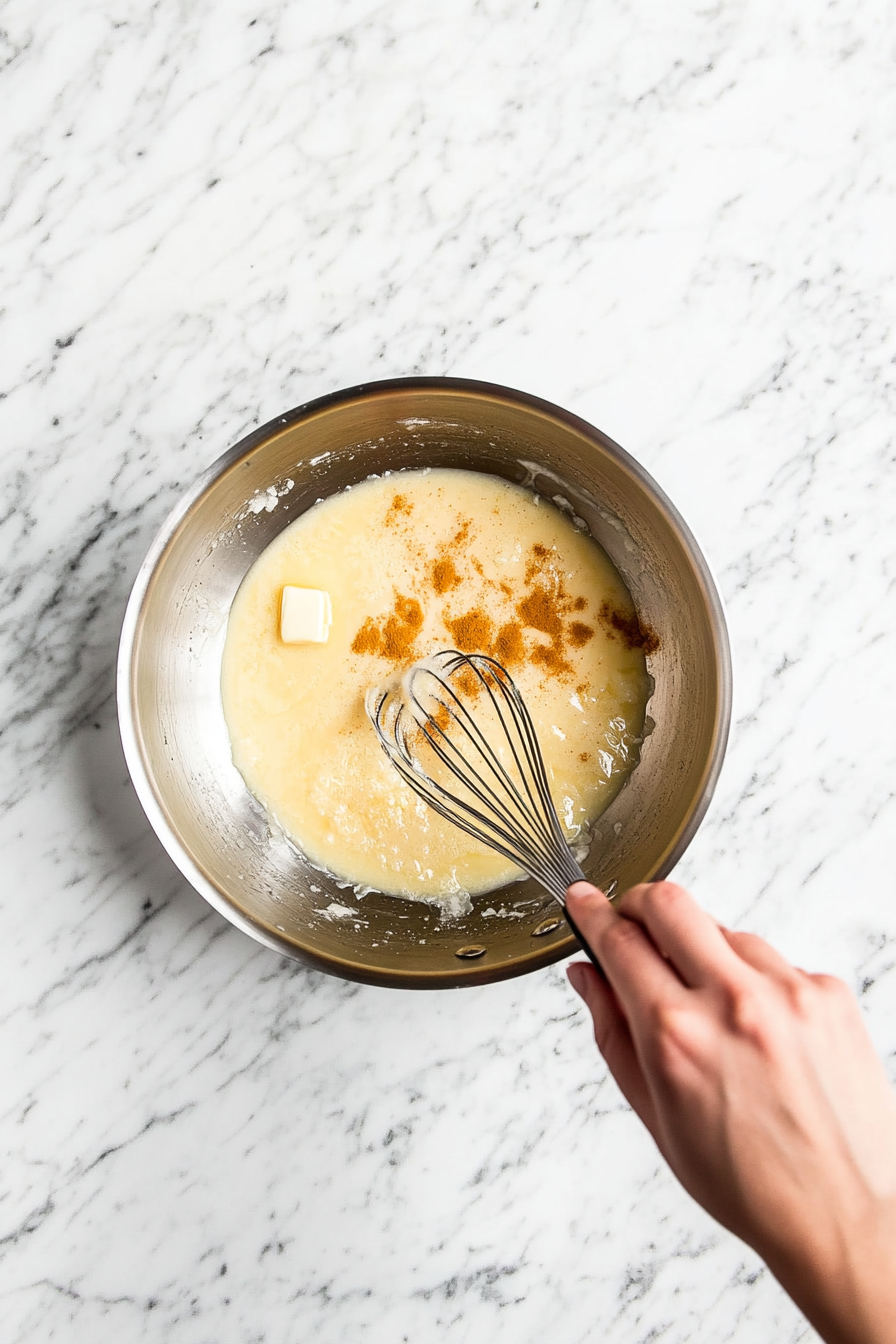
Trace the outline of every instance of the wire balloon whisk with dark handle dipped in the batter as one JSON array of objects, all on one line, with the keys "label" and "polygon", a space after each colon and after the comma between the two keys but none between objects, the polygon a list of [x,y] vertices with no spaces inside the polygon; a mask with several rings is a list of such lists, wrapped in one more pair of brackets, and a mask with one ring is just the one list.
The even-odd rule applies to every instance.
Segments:
[{"label": "wire balloon whisk with dark handle dipped in the batter", "polygon": [[[470,710],[476,704],[476,712]],[[551,798],[535,724],[517,685],[484,653],[445,649],[400,683],[367,692],[371,723],[400,777],[439,816],[523,868],[566,909],[584,874]]]}]

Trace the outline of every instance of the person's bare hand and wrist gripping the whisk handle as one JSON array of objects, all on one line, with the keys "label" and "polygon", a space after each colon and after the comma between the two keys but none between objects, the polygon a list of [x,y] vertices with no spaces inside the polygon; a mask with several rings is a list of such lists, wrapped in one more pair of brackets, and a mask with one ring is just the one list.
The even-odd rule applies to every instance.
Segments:
[{"label": "person's bare hand and wrist gripping the whisk handle", "polygon": [[896,1340],[896,1098],[845,984],[721,929],[681,887],[568,892],[568,968],[673,1172],[829,1344]]}]

